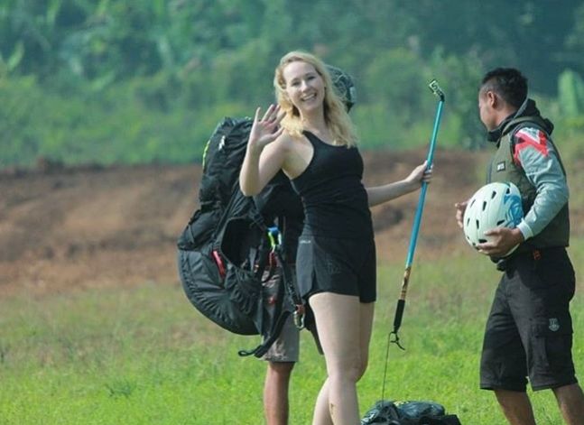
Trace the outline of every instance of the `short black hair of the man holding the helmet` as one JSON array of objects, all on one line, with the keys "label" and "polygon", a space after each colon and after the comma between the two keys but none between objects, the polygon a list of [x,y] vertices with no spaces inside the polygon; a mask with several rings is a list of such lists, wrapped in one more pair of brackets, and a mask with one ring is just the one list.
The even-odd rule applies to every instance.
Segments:
[{"label": "short black hair of the man holding the helmet", "polygon": [[519,108],[527,97],[527,79],[514,68],[496,68],[485,74],[481,90],[493,90],[505,102]]}]

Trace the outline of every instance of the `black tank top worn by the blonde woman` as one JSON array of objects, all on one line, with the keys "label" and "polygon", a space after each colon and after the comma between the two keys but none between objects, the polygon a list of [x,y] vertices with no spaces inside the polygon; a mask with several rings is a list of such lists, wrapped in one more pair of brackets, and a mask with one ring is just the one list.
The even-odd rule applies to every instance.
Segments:
[{"label": "black tank top worn by the blonde woman", "polygon": [[311,162],[292,187],[304,206],[307,236],[372,237],[371,212],[363,178],[363,159],[357,148],[333,146],[304,132],[311,142]]}]

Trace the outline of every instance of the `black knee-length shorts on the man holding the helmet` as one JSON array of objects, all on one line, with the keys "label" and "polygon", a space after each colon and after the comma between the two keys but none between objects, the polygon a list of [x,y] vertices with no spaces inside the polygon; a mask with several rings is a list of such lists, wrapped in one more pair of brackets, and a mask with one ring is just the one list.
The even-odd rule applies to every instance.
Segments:
[{"label": "black knee-length shorts on the man holding the helmet", "polygon": [[577,383],[571,356],[574,269],[564,248],[510,260],[487,319],[480,387],[524,392]]}]

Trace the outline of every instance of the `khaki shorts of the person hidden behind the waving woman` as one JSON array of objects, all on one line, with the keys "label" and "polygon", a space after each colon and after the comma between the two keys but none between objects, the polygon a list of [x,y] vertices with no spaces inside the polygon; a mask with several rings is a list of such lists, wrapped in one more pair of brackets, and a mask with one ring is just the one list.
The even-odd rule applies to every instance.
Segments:
[{"label": "khaki shorts of the person hidden behind the waving woman", "polygon": [[[292,273],[293,274],[293,273]],[[295,281],[295,276],[294,276]],[[279,276],[274,275],[269,281],[264,283],[264,300],[267,301],[278,292],[277,284]],[[294,282],[295,284],[296,282]],[[284,296],[287,296],[284,294]],[[280,336],[273,342],[270,349],[262,356],[268,362],[298,362],[300,356],[300,329],[294,325],[292,315],[286,319]]]}]

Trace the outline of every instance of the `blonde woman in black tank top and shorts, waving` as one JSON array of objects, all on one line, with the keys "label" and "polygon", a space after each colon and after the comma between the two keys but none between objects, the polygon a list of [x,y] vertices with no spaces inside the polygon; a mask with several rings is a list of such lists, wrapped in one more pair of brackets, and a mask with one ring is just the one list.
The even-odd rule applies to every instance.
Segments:
[{"label": "blonde woman in black tank top and shorts, waving", "polygon": [[252,196],[283,170],[301,196],[297,279],[327,366],[313,424],[356,425],[376,297],[369,207],[419,189],[431,171],[422,163],[403,180],[365,188],[357,134],[322,60],[287,53],[273,85],[278,104],[255,111],[239,183]]}]

